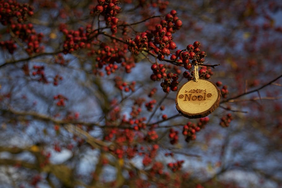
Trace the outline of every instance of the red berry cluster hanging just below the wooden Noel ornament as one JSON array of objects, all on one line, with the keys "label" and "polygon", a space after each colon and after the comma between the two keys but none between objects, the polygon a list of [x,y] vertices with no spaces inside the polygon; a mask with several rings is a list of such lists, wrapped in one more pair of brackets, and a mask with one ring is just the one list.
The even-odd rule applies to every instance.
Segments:
[{"label": "red berry cluster hanging just below the wooden Noel ornament", "polygon": [[190,140],[196,139],[196,132],[200,131],[207,123],[209,122],[208,117],[200,118],[197,124],[188,122],[183,126],[183,135],[186,136],[185,141],[189,142]]}]

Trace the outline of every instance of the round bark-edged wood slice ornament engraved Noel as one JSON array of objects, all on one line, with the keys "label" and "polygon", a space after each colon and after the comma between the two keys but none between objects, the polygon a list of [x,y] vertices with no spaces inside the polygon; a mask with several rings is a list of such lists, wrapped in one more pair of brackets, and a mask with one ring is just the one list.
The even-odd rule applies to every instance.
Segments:
[{"label": "round bark-edged wood slice ornament engraved Noel", "polygon": [[188,118],[205,117],[219,106],[221,92],[208,81],[191,80],[182,85],[175,98],[176,109]]}]

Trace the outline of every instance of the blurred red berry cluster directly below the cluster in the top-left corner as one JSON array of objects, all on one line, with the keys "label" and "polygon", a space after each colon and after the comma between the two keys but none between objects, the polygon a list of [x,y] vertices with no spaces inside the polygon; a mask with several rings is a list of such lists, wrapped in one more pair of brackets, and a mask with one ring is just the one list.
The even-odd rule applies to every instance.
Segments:
[{"label": "blurred red berry cluster directly below the cluster in the top-left corner", "polygon": [[44,46],[40,46],[40,42],[43,38],[43,33],[36,33],[33,28],[33,24],[11,24],[11,31],[15,34],[15,37],[22,39],[27,43],[26,52],[31,55],[33,53],[39,53],[44,51]]}]

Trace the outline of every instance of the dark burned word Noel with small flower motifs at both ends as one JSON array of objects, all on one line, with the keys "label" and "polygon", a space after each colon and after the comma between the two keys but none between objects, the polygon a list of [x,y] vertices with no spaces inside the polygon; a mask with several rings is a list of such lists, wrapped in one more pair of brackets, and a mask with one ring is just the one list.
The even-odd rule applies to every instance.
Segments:
[{"label": "dark burned word Noel with small flower motifs at both ends", "polygon": [[178,98],[184,98],[183,101],[201,101],[201,100],[206,100],[207,98],[210,98],[212,96],[211,93],[206,94],[206,90],[200,90],[200,89],[196,89],[196,90],[190,90],[190,91],[186,91],[185,93],[190,93],[190,94],[180,94],[178,96]]}]

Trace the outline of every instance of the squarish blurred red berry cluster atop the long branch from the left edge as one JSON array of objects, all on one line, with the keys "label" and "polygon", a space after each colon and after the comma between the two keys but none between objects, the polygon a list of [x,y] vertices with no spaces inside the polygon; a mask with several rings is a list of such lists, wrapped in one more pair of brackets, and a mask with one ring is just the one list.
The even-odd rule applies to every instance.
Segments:
[{"label": "squarish blurred red berry cluster atop the long branch from the left edge", "polygon": [[77,49],[90,48],[91,44],[88,42],[88,36],[90,35],[88,32],[89,28],[91,28],[91,25],[87,25],[86,29],[80,27],[78,30],[74,31],[61,26],[60,30],[66,36],[63,53],[67,54]]}]

